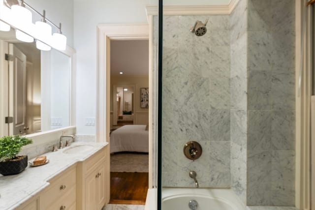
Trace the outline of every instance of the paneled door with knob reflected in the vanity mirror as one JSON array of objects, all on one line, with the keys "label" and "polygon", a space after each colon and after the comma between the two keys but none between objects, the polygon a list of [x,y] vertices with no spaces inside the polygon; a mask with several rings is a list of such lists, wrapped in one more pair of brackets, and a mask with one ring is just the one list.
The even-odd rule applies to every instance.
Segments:
[{"label": "paneled door with knob reflected in the vanity mirror", "polygon": [[[9,64],[10,71],[10,116],[13,117],[10,135],[26,134],[28,129],[26,121],[27,89],[26,89],[26,56],[13,44],[9,44],[9,53],[12,60]],[[12,93],[12,94],[11,94]]]}]

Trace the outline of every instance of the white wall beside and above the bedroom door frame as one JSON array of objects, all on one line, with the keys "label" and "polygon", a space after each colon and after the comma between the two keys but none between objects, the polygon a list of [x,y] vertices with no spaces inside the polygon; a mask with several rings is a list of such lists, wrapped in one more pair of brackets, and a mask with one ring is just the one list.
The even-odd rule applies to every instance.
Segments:
[{"label": "white wall beside and above the bedroom door frame", "polygon": [[96,26],[147,23],[147,4],[148,0],[74,0],[78,134],[95,134],[95,126],[85,126],[85,118],[96,113]]}]

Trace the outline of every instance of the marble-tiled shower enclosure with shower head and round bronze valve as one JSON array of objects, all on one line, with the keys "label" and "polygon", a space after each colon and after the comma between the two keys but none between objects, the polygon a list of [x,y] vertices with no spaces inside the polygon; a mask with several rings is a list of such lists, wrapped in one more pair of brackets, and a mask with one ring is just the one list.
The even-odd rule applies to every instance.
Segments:
[{"label": "marble-tiled shower enclosure with shower head and round bronze valve", "polygon": [[159,17],[158,207],[171,188],[198,194],[196,180],[250,208],[294,207],[295,0],[182,2],[163,0]]}]

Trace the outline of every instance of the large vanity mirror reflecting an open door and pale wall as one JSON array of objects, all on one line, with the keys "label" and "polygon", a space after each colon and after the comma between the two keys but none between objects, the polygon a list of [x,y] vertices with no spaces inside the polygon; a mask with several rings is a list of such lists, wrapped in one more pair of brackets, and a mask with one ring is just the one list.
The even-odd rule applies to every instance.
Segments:
[{"label": "large vanity mirror reflecting an open door and pale wall", "polygon": [[73,72],[67,54],[20,42],[14,30],[0,32],[0,136],[73,125]]}]

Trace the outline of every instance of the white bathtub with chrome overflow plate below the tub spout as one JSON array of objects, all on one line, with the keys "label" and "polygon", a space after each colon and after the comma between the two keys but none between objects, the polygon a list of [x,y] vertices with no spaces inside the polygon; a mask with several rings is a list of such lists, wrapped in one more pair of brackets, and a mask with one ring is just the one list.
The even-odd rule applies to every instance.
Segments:
[{"label": "white bathtub with chrome overflow plate below the tub spout", "polygon": [[162,189],[162,210],[190,210],[190,200],[198,202],[197,210],[248,210],[231,189]]}]

